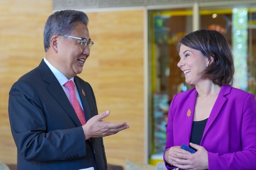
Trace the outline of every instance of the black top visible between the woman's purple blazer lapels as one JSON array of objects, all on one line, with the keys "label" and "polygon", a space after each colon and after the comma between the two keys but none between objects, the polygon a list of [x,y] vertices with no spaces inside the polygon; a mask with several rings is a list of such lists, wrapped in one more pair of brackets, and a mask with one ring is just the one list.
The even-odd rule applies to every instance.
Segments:
[{"label": "black top visible between the woman's purple blazer lapels", "polygon": [[191,136],[190,136],[190,142],[200,145],[207,120],[208,120],[208,118],[201,120],[201,121],[193,122]]}]

